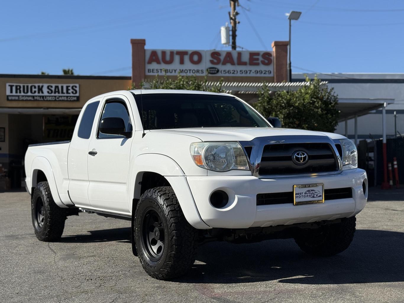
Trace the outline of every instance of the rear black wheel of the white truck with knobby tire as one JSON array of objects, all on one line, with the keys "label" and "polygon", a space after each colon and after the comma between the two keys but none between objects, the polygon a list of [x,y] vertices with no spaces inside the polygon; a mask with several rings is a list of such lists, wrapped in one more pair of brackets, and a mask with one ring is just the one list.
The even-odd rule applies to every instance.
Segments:
[{"label": "rear black wheel of the white truck with knobby tire", "polygon": [[65,227],[66,211],[53,201],[48,182],[39,182],[31,197],[32,225],[40,241],[58,240]]}]

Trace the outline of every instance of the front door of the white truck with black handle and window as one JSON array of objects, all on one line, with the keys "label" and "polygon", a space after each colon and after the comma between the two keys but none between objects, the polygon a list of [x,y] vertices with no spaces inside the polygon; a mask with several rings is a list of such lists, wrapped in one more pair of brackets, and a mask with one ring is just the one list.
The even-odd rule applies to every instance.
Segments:
[{"label": "front door of the white truck with black handle and window", "polygon": [[[132,131],[132,109],[126,97],[108,96],[103,100],[98,125],[104,118],[122,118],[125,131]],[[98,126],[97,125],[97,126]],[[132,134],[134,132],[132,131]],[[129,213],[128,178],[133,136],[107,135],[97,131],[88,146],[88,199],[91,206]]]}]

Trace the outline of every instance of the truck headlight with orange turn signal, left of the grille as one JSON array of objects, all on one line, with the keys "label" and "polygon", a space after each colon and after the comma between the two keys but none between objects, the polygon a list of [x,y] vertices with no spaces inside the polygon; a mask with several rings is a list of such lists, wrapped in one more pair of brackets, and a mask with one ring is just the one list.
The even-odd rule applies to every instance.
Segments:
[{"label": "truck headlight with orange turn signal, left of the grille", "polygon": [[200,142],[191,144],[196,165],[213,171],[249,170],[246,155],[238,142]]}]

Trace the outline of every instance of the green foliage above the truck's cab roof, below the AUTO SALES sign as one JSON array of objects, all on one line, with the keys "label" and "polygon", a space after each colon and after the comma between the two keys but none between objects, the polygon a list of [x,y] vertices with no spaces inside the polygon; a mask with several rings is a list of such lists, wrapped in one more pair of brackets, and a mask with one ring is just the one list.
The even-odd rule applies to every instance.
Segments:
[{"label": "green foliage above the truck's cab roof, below the AUTO SALES sign", "polygon": [[[223,79],[219,80],[218,85],[210,86],[208,85],[208,78],[205,76],[204,80],[198,80],[195,75],[193,76],[181,76],[178,74],[176,79],[168,78],[167,75],[164,75],[163,79],[158,78],[156,76],[153,81],[150,83],[150,89],[185,89],[185,90],[199,90],[199,91],[207,91],[214,93],[223,93],[224,89],[222,88]],[[144,83],[140,83],[140,88],[144,88]],[[136,89],[134,83],[132,83],[132,87],[130,89]]]}]

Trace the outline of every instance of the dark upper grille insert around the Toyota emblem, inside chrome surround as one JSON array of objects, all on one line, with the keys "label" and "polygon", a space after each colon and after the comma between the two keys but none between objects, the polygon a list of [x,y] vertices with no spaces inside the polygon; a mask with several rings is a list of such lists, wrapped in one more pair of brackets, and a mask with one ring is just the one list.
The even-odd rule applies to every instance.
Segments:
[{"label": "dark upper grille insert around the Toyota emblem, inside chrome surround", "polygon": [[[308,155],[305,164],[296,164],[292,157],[296,151]],[[259,175],[292,175],[325,173],[338,170],[335,153],[329,143],[286,143],[264,146]]]}]

